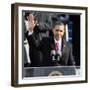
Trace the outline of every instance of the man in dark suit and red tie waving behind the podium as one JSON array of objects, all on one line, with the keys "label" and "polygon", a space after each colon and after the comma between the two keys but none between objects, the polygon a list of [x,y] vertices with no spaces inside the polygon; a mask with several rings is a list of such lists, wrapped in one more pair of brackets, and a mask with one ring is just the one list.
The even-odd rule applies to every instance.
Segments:
[{"label": "man in dark suit and red tie waving behind the podium", "polygon": [[[29,21],[29,24],[32,24]],[[34,24],[32,24],[34,26]],[[42,66],[75,65],[72,46],[63,38],[65,25],[57,21],[52,27],[53,37],[43,38],[38,41],[35,38],[34,29],[29,29],[27,39],[29,45],[40,50],[43,54]]]}]

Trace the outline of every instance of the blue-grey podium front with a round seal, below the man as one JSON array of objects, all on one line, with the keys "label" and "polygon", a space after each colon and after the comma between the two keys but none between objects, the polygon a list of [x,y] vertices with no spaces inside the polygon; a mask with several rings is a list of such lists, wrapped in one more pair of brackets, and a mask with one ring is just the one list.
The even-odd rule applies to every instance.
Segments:
[{"label": "blue-grey podium front with a round seal, below the man", "polygon": [[52,66],[52,67],[26,67],[24,68],[24,77],[44,77],[75,75],[74,66]]}]

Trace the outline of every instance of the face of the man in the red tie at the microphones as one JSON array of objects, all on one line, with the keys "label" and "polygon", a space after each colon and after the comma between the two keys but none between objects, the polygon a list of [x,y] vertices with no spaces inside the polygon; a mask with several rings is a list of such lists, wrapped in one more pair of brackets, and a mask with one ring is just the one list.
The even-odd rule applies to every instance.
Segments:
[{"label": "face of the man in the red tie at the microphones", "polygon": [[56,25],[53,28],[53,34],[56,40],[59,40],[60,38],[62,38],[64,35],[64,25]]}]

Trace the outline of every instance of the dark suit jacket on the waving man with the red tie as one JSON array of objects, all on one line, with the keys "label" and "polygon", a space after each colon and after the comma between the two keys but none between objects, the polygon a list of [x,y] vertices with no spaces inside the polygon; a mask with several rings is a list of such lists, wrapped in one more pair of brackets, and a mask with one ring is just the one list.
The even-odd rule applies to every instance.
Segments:
[{"label": "dark suit jacket on the waving man with the red tie", "polygon": [[55,48],[53,37],[45,37],[41,41],[38,41],[35,38],[35,34],[33,33],[32,35],[28,36],[28,42],[30,46],[42,52],[42,66],[75,65],[72,55],[72,46],[64,39],[62,39],[62,56],[60,60],[57,62],[58,64],[55,64],[56,62],[53,62],[51,57],[52,47]]}]

